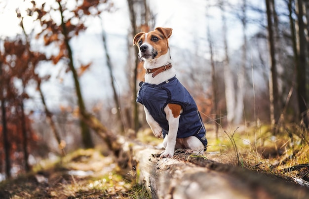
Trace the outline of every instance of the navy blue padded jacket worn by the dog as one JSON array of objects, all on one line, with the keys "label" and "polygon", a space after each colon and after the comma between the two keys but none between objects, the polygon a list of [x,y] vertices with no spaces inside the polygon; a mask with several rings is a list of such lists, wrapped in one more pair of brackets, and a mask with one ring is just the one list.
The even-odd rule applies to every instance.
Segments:
[{"label": "navy blue padded jacket worn by the dog", "polygon": [[183,113],[179,119],[177,138],[197,137],[205,146],[206,130],[196,103],[188,90],[174,77],[158,85],[144,82],[140,84],[136,101],[143,104],[150,115],[162,127],[163,137],[168,133],[168,121],[164,113],[167,104],[179,104]]}]

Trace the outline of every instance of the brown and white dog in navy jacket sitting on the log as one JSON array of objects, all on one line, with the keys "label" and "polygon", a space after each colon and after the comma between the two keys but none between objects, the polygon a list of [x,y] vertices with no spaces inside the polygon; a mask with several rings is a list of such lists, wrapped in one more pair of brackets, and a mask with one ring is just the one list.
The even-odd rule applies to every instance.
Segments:
[{"label": "brown and white dog in navy jacket sitting on the log", "polygon": [[171,35],[171,28],[157,27],[133,39],[146,70],[136,101],[144,105],[154,136],[164,138],[165,150],[160,158],[173,157],[175,149],[190,149],[198,154],[207,148],[206,130],[197,106],[172,66],[168,45]]}]

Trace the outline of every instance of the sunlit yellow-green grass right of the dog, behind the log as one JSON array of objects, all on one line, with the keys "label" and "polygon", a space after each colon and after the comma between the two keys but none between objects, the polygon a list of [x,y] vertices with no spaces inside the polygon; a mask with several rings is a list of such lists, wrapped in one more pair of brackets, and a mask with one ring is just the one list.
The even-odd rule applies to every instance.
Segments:
[{"label": "sunlit yellow-green grass right of the dog, behind the log", "polygon": [[[217,152],[220,157],[226,155],[227,158],[222,159],[223,163],[239,165],[289,180],[293,176],[309,180],[308,130],[296,124],[281,127],[275,135],[270,132],[269,125],[231,127],[228,130],[221,129],[218,140],[208,140],[208,156],[214,157],[211,156],[213,152]],[[305,167],[293,171],[285,169],[293,165]]]}]

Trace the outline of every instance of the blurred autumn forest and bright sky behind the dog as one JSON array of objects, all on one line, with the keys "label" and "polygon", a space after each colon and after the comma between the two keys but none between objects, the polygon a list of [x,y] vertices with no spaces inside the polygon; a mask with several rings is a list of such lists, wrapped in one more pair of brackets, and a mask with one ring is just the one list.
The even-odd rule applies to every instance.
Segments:
[{"label": "blurred autumn forest and bright sky behind the dog", "polygon": [[217,136],[308,129],[308,22],[308,0],[0,0],[0,180],[147,128],[132,39],[155,27]]}]

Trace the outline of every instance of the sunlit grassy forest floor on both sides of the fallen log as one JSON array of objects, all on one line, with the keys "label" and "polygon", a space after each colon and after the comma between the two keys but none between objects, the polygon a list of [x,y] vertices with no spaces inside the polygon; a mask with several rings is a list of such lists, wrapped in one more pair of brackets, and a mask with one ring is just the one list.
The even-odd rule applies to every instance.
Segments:
[{"label": "sunlit grassy forest floor on both sides of the fallen log", "polygon": [[[207,126],[209,146],[202,157],[308,187],[308,131],[295,128],[290,126],[286,133],[274,136],[269,127],[242,126],[219,129],[216,136],[213,126]],[[138,133],[138,139],[150,145],[162,141],[149,129]],[[99,149],[80,149],[57,161],[41,160],[32,172],[1,182],[0,199],[151,198],[133,171],[119,168],[113,158],[103,154]],[[173,158],[186,161],[187,157],[176,153]]]}]

